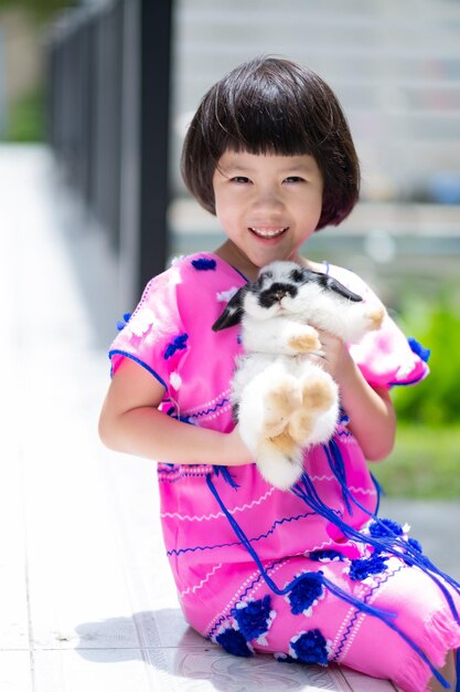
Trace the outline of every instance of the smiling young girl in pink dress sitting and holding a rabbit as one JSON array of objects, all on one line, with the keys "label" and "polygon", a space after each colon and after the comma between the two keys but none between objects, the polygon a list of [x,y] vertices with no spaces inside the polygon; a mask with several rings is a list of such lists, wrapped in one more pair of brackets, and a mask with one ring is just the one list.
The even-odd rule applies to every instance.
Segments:
[{"label": "smiling young girl in pink dress sitting and holding a rabbit", "polygon": [[322,332],[322,364],[344,413],[333,439],[304,454],[301,481],[280,491],[232,421],[238,327],[212,329],[236,290],[274,260],[370,295],[352,272],[300,254],[359,197],[335,96],[292,62],[253,60],[204,96],[182,169],[226,240],[148,284],[110,349],[100,436],[158,461],[164,542],[188,621],[237,656],[339,662],[410,692],[454,688],[459,587],[406,528],[375,516],[366,465],[394,443],[389,387],[424,378],[424,359],[391,318],[352,347]]}]

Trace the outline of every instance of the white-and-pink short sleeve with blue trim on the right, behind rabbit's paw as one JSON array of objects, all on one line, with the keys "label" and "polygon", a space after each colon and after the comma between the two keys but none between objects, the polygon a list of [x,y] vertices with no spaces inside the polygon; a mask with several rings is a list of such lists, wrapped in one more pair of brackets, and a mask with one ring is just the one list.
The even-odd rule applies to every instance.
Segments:
[{"label": "white-and-pink short sleeve with blue trim on the right, behind rabbit's paw", "polygon": [[[331,266],[330,271],[364,300],[375,295],[353,272],[335,266]],[[373,387],[415,385],[429,374],[429,350],[416,339],[407,338],[389,315],[385,316],[379,329],[366,334],[359,344],[352,344],[350,353]]]}]

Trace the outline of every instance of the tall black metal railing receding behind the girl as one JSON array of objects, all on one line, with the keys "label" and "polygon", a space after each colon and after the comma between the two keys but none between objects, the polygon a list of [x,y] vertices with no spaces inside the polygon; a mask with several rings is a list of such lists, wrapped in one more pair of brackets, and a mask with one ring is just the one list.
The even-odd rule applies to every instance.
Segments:
[{"label": "tall black metal railing receding behind the girl", "polygon": [[106,229],[130,297],[168,255],[172,2],[66,12],[49,38],[49,138]]}]

